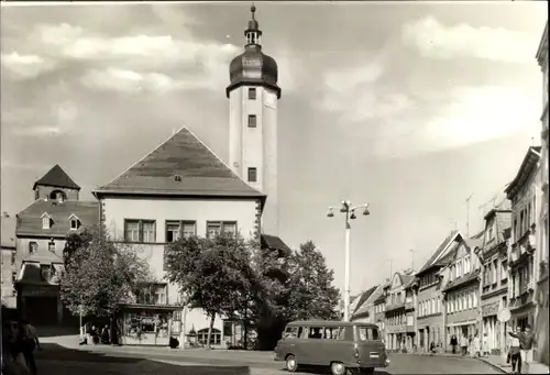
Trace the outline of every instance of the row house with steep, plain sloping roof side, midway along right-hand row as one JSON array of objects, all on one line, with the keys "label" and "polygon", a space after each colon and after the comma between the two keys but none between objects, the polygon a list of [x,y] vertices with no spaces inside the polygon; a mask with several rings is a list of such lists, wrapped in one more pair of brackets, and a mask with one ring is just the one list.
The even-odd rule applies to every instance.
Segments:
[{"label": "row house with steep, plain sloping roof side, midway along right-hand row", "polygon": [[416,274],[416,346],[419,351],[428,352],[432,342],[439,348],[446,342],[441,269],[451,263],[451,250],[460,235],[459,231],[452,231]]}]

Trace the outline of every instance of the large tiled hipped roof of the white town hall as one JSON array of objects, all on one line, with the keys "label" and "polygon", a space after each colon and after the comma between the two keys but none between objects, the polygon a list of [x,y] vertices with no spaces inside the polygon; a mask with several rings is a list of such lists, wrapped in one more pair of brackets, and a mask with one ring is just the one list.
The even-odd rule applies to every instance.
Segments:
[{"label": "large tiled hipped roof of the white town hall", "polygon": [[182,128],[109,184],[92,191],[113,195],[265,197]]}]

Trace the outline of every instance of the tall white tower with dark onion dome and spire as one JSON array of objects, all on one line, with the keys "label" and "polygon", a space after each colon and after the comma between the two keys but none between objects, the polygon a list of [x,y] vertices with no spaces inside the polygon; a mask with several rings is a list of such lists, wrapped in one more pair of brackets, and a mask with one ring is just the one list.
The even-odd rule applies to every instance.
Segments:
[{"label": "tall white tower with dark onion dome and spire", "polygon": [[278,234],[277,201],[277,63],[262,52],[256,8],[244,31],[244,52],[229,68],[229,165],[267,196],[262,233]]}]

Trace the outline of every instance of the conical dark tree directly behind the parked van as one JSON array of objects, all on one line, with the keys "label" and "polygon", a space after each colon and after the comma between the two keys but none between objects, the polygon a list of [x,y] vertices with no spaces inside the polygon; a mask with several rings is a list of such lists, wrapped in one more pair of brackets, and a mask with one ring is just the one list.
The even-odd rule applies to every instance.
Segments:
[{"label": "conical dark tree directly behind the parked van", "polygon": [[340,291],[332,283],[334,272],[312,241],[300,245],[290,258],[286,318],[292,320],[339,319],[334,307]]}]

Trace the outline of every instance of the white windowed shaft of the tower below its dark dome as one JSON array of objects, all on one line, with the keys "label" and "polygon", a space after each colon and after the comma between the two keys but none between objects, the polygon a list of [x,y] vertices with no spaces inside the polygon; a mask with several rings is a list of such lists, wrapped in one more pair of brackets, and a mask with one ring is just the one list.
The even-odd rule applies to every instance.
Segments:
[{"label": "white windowed shaft of the tower below its dark dome", "polygon": [[[277,93],[262,86],[240,86],[229,93],[229,166],[267,200],[262,232],[278,234]],[[251,180],[255,168],[255,180]]]}]

